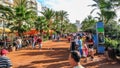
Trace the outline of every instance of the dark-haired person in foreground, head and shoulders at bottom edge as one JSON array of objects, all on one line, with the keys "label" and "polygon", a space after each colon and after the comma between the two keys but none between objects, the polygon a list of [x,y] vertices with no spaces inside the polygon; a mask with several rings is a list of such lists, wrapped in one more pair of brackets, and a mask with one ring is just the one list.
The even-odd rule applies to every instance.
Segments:
[{"label": "dark-haired person in foreground, head and shoulders at bottom edge", "polygon": [[71,51],[69,55],[69,62],[72,68],[84,68],[80,64],[80,53],[78,51]]}]

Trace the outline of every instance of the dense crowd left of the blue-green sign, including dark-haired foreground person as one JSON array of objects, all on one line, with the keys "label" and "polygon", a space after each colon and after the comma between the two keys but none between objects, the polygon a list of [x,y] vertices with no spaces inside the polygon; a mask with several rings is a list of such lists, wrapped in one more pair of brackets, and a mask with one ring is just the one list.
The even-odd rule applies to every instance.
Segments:
[{"label": "dense crowd left of the blue-green sign, including dark-haired foreground person", "polygon": [[84,68],[79,64],[80,58],[85,57],[85,61],[88,61],[88,56],[90,60],[94,60],[94,39],[91,33],[73,33],[68,37],[70,45],[70,58],[73,58],[74,61],[71,62],[71,65],[74,68]]}]

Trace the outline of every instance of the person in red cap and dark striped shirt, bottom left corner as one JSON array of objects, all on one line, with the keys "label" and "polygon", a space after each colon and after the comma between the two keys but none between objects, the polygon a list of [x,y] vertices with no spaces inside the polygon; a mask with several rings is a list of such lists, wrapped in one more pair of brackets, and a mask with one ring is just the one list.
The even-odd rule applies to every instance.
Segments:
[{"label": "person in red cap and dark striped shirt, bottom left corner", "polygon": [[2,49],[0,51],[0,68],[12,68],[12,63],[10,59],[6,56],[8,51],[6,49]]}]

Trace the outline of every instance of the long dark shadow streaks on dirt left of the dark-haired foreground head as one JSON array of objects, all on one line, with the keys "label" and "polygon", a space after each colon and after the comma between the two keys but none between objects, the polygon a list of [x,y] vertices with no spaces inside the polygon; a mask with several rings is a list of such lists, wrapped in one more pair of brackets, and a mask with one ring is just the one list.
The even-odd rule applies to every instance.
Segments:
[{"label": "long dark shadow streaks on dirt left of the dark-haired foreground head", "polygon": [[[26,56],[26,55],[27,56],[45,55],[45,56],[49,56],[49,58],[51,58],[51,59],[31,61],[30,64],[24,65],[24,66],[19,66],[17,68],[35,68],[35,67],[33,67],[33,65],[35,65],[35,64],[44,64],[45,68],[60,68],[60,67],[64,67],[64,66],[70,66],[69,62],[67,61],[68,55],[69,55],[68,48],[52,48],[52,50],[44,48],[43,50],[45,50],[45,51],[26,52],[26,53],[23,53],[20,55],[24,55],[24,56]],[[50,64],[50,65],[46,65],[46,64]]]}]

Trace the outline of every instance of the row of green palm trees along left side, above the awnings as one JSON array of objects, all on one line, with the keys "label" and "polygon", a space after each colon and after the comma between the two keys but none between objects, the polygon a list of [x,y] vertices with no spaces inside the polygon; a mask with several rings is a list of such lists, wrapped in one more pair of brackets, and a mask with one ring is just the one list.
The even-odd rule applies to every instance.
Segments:
[{"label": "row of green palm trees along left side, above the awnings", "polygon": [[31,28],[37,30],[54,30],[58,32],[75,32],[77,30],[74,24],[71,24],[68,19],[68,13],[64,10],[54,11],[50,8],[45,8],[41,14],[37,13],[32,7],[28,7],[27,0],[14,0],[13,7],[0,5],[0,13],[6,16],[6,20],[10,20],[7,25],[12,31],[18,31],[22,34]]}]

